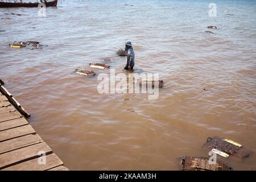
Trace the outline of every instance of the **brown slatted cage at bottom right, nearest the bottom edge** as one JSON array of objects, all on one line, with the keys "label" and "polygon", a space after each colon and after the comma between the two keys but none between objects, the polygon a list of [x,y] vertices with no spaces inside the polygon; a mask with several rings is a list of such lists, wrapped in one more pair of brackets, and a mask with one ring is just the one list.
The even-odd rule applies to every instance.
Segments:
[{"label": "brown slatted cage at bottom right, nearest the bottom edge", "polygon": [[182,171],[233,171],[226,163],[210,164],[208,158],[183,156],[180,159]]}]

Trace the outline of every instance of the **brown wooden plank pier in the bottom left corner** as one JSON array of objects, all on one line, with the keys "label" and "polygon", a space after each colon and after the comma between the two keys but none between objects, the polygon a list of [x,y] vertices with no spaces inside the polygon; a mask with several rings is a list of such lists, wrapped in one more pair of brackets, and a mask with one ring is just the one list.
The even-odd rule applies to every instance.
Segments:
[{"label": "brown wooden plank pier in the bottom left corner", "polygon": [[8,97],[0,92],[0,170],[68,171]]}]

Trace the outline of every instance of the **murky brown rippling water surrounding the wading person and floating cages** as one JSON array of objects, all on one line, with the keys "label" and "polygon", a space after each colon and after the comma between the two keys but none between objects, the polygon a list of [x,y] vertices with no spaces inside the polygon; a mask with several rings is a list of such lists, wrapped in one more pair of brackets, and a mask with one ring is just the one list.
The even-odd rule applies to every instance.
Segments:
[{"label": "murky brown rippling water surrounding the wading person and floating cages", "polygon": [[[255,151],[256,5],[216,3],[216,18],[203,1],[63,1],[46,18],[37,9],[0,9],[11,18],[0,19],[0,77],[69,169],[177,170],[179,156],[207,156],[200,147],[213,136]],[[22,16],[4,15],[11,12]],[[216,34],[204,32],[210,24]],[[48,47],[9,48],[15,40]],[[158,100],[99,94],[97,77],[73,73],[105,56],[123,73],[125,57],[115,52],[125,40],[134,44],[134,72],[164,80]],[[255,155],[229,162],[256,169]]]}]

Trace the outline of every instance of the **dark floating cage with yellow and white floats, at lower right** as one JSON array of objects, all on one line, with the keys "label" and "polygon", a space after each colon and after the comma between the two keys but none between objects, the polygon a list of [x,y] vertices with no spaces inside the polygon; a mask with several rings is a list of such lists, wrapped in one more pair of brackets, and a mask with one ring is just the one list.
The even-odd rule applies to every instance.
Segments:
[{"label": "dark floating cage with yellow and white floats, at lower right", "polygon": [[213,151],[224,158],[242,160],[250,156],[249,149],[243,147],[241,144],[218,137],[208,138],[203,149]]}]

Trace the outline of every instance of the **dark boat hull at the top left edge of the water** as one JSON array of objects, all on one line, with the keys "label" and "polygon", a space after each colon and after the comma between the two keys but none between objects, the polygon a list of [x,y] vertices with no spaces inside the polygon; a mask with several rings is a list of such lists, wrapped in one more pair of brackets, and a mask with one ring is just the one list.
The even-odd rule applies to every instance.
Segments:
[{"label": "dark boat hull at the top left edge of the water", "polygon": [[[57,6],[57,0],[46,2],[46,6]],[[1,7],[38,7],[39,3],[14,3],[14,2],[0,2],[0,8]]]}]

